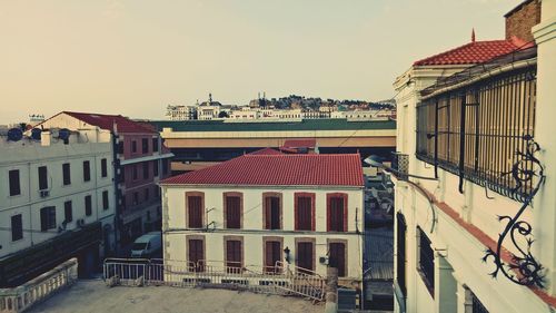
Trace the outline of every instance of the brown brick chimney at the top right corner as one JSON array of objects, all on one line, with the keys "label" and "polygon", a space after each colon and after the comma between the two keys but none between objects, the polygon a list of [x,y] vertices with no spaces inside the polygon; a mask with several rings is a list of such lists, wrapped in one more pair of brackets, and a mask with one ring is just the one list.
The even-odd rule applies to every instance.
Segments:
[{"label": "brown brick chimney at the top right corner", "polygon": [[540,0],[525,0],[507,12],[506,18],[506,40],[513,37],[522,41],[533,41],[530,29],[540,22]]}]

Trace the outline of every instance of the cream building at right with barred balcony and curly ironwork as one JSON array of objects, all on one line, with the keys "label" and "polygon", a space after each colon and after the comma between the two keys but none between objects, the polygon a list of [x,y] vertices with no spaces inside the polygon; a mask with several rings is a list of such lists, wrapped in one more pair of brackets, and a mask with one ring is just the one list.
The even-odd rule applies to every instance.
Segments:
[{"label": "cream building at right with barred balcony and curly ironwork", "polygon": [[[542,6],[537,46],[471,41],[395,82],[396,312],[556,307],[556,1],[525,1],[506,18],[530,6]],[[530,32],[538,20],[519,23]]]}]

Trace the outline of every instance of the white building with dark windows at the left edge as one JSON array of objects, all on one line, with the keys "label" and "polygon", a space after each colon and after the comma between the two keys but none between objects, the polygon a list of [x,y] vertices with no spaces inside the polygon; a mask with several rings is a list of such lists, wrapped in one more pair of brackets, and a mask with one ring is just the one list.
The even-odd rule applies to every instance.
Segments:
[{"label": "white building with dark windows at the left edge", "polygon": [[88,275],[116,246],[110,137],[59,129],[33,137],[0,141],[2,286],[71,257]]}]

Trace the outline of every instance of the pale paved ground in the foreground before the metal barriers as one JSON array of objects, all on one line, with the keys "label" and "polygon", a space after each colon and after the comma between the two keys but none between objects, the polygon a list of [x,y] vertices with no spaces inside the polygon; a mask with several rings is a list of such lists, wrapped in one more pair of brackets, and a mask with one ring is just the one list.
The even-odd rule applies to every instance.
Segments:
[{"label": "pale paved ground in the foreground before the metal barriers", "polygon": [[324,310],[324,304],[314,305],[298,297],[167,286],[110,288],[95,280],[79,281],[28,312],[321,313]]}]

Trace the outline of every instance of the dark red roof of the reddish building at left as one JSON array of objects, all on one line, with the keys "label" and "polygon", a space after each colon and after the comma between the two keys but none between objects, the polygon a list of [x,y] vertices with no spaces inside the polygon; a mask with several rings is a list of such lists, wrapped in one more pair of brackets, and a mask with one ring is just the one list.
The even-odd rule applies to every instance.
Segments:
[{"label": "dark red roof of the reddish building at left", "polygon": [[112,130],[113,124],[117,125],[118,133],[141,133],[141,134],[152,134],[156,133],[153,128],[147,127],[141,123],[133,121],[121,115],[105,115],[105,114],[91,114],[91,113],[73,113],[73,111],[62,111],[69,116],[80,119],[87,124],[95,125],[102,129]]}]

